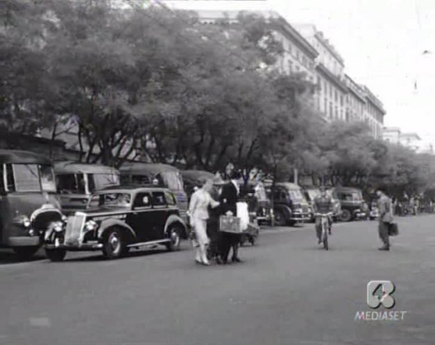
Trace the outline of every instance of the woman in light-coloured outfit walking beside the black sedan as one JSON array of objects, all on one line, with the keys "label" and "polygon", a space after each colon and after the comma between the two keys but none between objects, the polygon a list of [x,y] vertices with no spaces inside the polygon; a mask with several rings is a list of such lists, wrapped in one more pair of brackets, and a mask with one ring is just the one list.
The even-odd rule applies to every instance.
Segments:
[{"label": "woman in light-coloured outfit walking beside the black sedan", "polygon": [[207,245],[210,242],[207,237],[207,219],[209,218],[208,207],[211,206],[212,208],[215,208],[219,206],[219,202],[213,200],[209,193],[213,187],[211,179],[202,179],[201,185],[202,187],[191,195],[189,216],[191,227],[193,227],[195,231],[196,242],[198,242],[195,260],[197,263],[210,265],[207,260]]}]

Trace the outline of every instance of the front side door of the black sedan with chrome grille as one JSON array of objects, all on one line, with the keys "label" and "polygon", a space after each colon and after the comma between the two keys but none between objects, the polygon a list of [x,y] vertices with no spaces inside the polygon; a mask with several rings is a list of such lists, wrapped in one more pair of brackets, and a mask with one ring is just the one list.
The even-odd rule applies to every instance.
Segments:
[{"label": "front side door of the black sedan with chrome grille", "polygon": [[148,242],[153,236],[152,196],[149,192],[139,192],[133,202],[133,211],[128,217],[128,225],[137,234],[138,242]]}]

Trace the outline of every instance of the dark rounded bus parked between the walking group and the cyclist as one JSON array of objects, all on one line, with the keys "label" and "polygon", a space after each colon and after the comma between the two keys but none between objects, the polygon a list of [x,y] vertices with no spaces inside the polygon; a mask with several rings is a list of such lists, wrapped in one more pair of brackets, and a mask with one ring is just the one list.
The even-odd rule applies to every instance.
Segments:
[{"label": "dark rounded bus parked between the walking group and the cyclist", "polygon": [[297,184],[280,182],[272,186],[266,184],[266,191],[273,198],[275,225],[293,225],[310,219],[309,205]]}]

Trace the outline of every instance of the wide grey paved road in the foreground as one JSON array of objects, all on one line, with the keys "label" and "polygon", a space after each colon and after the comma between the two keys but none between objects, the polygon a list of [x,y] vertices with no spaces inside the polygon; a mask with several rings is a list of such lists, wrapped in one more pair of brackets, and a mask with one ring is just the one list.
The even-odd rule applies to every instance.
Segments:
[{"label": "wide grey paved road in the foreground", "polygon": [[[434,344],[435,216],[401,218],[390,252],[375,222],[265,230],[244,263],[195,265],[184,250],[15,263],[0,254],[0,344]],[[402,321],[355,320],[366,285],[396,285]],[[382,307],[381,307],[382,308]]]}]

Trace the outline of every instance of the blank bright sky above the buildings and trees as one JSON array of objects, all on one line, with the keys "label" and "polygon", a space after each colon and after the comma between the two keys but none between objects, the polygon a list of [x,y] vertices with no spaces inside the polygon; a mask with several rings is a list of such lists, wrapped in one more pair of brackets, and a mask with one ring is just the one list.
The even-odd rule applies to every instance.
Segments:
[{"label": "blank bright sky above the buildings and trees", "polygon": [[[435,145],[434,0],[167,0],[189,10],[275,10],[312,23],[345,60],[345,71],[384,104],[384,125]],[[423,54],[424,51],[429,53]]]}]

